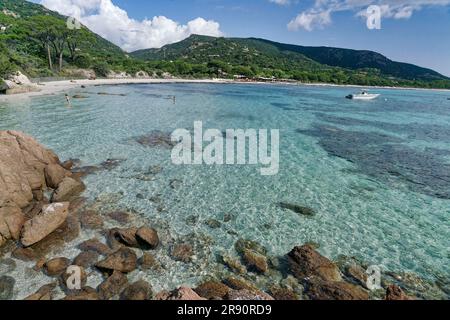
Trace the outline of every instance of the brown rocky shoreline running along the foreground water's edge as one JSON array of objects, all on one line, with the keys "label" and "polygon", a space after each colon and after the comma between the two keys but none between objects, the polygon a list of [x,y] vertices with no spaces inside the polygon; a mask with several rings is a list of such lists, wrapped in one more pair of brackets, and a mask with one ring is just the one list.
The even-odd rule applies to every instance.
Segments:
[{"label": "brown rocky shoreline running along the foreground water's edge", "polygon": [[[383,272],[381,288],[369,290],[368,266],[355,258],[333,262],[313,243],[272,257],[266,248],[248,239],[236,241],[236,256],[217,257],[226,273],[208,275],[195,287],[179,284],[173,291],[158,292],[151,281],[130,279],[129,275],[156,271],[164,276],[164,264],[156,254],[161,247],[167,259],[186,265],[210,253],[203,244],[188,239],[167,239],[163,230],[132,213],[99,212],[86,205],[82,178],[114,167],[118,160],[107,160],[100,167],[79,167],[75,160],[60,161],[36,140],[16,131],[0,131],[0,151],[0,300],[14,297],[19,284],[10,274],[20,263],[32,265],[32,272],[51,279],[37,291],[28,292],[27,300],[448,298],[445,279],[431,283],[412,274]],[[313,214],[300,206],[280,206]],[[209,222],[211,227],[215,223]],[[92,238],[80,241],[83,232]],[[59,255],[59,249],[68,245],[74,246],[75,253]],[[73,266],[80,271],[80,289],[68,286],[67,271]]]}]

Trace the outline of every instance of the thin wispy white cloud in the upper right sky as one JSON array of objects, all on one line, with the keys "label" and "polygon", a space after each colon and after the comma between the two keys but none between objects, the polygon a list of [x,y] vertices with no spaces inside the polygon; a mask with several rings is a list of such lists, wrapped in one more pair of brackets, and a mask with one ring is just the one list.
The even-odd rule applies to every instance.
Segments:
[{"label": "thin wispy white cloud in the upper right sky", "polygon": [[415,11],[424,7],[449,6],[450,0],[315,0],[310,9],[300,12],[289,22],[288,29],[312,31],[323,28],[331,24],[334,12],[352,11],[364,17],[371,5],[379,5],[384,18],[409,19]]}]

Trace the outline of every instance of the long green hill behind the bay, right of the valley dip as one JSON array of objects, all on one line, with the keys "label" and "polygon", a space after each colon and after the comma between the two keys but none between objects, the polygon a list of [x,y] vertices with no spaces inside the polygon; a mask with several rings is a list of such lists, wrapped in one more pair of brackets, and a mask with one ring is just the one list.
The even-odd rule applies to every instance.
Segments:
[{"label": "long green hill behind the bay, right of the valley dip", "polygon": [[[229,72],[338,84],[446,87],[450,80],[426,68],[391,61],[372,51],[304,47],[256,38],[194,35],[160,49],[131,53],[144,61],[215,63]],[[242,73],[242,72],[241,72]]]}]

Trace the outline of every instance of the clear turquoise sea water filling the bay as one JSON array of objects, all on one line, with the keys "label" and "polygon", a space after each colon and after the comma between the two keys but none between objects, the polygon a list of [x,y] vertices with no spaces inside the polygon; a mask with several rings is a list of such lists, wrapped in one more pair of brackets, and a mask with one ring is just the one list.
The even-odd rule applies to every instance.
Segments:
[{"label": "clear turquoise sea water filling the bay", "polygon": [[[332,258],[355,256],[385,270],[448,278],[449,94],[376,90],[382,98],[355,102],[343,98],[351,91],[238,84],[90,87],[71,91],[88,95],[73,100],[72,108],[63,93],[3,104],[0,129],[23,130],[82,165],[123,160],[86,178],[90,200],[102,199],[105,210],[134,210],[149,224],[165,226],[173,239],[213,239],[208,249],[197,248],[208,261],[203,270],[168,267],[172,276],[161,276],[161,287],[207,274],[215,268],[213,253],[233,253],[238,238],[259,241],[273,256],[314,241]],[[191,129],[194,121],[221,130],[280,129],[279,174],[261,176],[255,166],[175,166],[169,149],[136,142],[154,130]],[[162,171],[142,179],[152,166]],[[311,207],[317,215],[280,209],[280,201]],[[231,221],[223,222],[224,216]],[[220,228],[211,229],[209,219],[221,221]]]}]

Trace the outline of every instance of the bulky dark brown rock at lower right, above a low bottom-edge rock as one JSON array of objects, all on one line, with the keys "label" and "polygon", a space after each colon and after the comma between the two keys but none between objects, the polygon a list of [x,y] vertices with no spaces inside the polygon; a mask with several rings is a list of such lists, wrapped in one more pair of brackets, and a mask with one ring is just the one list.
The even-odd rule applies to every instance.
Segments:
[{"label": "bulky dark brown rock at lower right, above a low bottom-edge rock", "polygon": [[317,277],[325,281],[341,281],[339,268],[311,246],[295,247],[288,254],[292,274],[299,280]]}]

